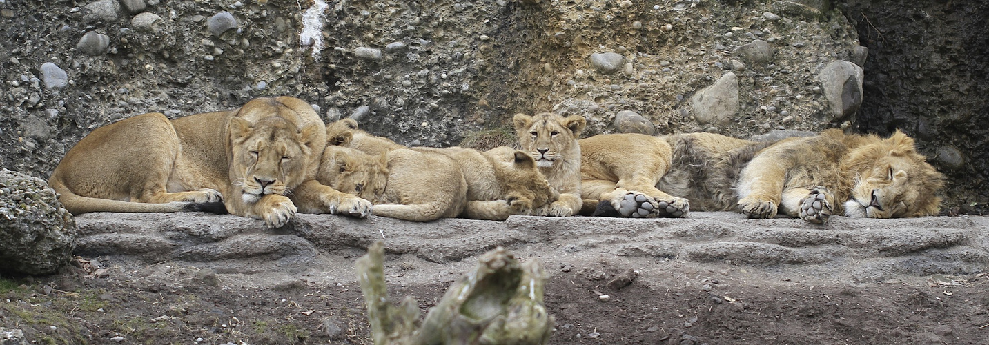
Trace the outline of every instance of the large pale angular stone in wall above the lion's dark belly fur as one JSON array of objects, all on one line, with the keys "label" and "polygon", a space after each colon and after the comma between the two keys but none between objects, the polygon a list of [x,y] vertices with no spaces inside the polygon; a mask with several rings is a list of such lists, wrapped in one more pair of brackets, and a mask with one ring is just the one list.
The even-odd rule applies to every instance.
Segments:
[{"label": "large pale angular stone in wall above the lion's dark belly fur", "polygon": [[700,124],[728,124],[739,112],[739,81],[728,72],[714,85],[698,91],[691,98],[693,116]]}]

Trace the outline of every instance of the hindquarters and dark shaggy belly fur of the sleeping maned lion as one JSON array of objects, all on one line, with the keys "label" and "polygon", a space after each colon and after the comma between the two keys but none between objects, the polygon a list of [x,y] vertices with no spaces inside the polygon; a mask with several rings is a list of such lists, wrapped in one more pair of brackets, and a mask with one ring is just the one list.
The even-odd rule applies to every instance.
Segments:
[{"label": "hindquarters and dark shaggy belly fur of the sleeping maned lion", "polygon": [[579,140],[583,215],[686,216],[735,206],[739,171],[768,143],[714,133]]}]

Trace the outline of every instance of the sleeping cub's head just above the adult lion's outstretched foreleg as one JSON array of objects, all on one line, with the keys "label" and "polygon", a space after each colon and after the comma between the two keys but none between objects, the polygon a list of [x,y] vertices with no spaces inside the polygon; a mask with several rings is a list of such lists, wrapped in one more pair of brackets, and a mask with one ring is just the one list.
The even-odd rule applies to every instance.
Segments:
[{"label": "sleeping cub's head just above the adult lion's outstretched foreleg", "polygon": [[370,155],[350,147],[327,145],[316,180],[337,191],[379,201],[388,182],[388,153]]}]

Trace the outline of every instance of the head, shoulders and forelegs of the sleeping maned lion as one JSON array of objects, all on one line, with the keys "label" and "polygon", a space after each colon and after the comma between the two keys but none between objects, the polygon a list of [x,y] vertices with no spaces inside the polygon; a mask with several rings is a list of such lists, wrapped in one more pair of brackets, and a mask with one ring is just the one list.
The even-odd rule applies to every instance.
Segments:
[{"label": "head, shoulders and forelegs of the sleeping maned lion", "polygon": [[944,176],[925,161],[914,139],[828,129],[779,141],[742,170],[738,202],[749,217],[777,213],[823,223],[838,213],[875,218],[932,216]]}]

